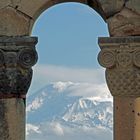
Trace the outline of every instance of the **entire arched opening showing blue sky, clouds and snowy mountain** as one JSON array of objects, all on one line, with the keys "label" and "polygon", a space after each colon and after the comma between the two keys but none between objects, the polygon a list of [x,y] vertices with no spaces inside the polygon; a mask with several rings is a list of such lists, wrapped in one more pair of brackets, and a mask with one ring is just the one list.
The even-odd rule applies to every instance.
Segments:
[{"label": "entire arched opening showing blue sky, clouds and snowy mountain", "polygon": [[[111,140],[112,98],[96,62],[97,37],[108,36],[104,21],[83,4],[59,4],[40,16],[33,35],[39,36],[39,63],[29,91],[27,127],[38,132],[28,130],[27,139]],[[101,112],[96,103],[105,105]]]}]

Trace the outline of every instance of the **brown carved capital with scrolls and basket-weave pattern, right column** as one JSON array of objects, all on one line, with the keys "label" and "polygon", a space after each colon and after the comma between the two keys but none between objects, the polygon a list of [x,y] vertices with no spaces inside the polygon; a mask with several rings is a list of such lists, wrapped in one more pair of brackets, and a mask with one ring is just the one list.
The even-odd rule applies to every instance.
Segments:
[{"label": "brown carved capital with scrolls and basket-weave pattern, right column", "polygon": [[99,45],[111,94],[140,97],[140,37],[99,38]]}]

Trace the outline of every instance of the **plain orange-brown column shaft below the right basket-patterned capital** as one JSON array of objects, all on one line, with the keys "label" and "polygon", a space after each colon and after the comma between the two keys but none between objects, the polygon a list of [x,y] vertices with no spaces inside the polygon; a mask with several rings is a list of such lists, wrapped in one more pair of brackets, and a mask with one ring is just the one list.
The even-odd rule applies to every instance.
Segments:
[{"label": "plain orange-brown column shaft below the right basket-patterned capital", "polygon": [[114,140],[140,140],[140,98],[114,97]]}]

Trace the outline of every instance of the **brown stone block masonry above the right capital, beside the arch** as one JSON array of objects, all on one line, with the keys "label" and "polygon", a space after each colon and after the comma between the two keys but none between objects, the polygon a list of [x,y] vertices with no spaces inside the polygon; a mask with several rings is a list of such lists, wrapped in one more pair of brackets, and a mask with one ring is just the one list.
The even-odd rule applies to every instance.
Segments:
[{"label": "brown stone block masonry above the right capital, beside the arch", "polygon": [[[96,0],[96,3],[110,36],[140,35],[140,0]],[[89,1],[89,5],[94,8],[95,1]]]}]

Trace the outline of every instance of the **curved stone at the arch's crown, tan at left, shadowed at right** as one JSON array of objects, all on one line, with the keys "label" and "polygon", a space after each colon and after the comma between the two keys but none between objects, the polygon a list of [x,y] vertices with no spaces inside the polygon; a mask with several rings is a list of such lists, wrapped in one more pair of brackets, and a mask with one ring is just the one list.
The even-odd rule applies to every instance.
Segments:
[{"label": "curved stone at the arch's crown, tan at left, shadowed at right", "polygon": [[79,2],[87,4],[93,9],[95,9],[102,17],[104,17],[101,4],[97,0],[38,0],[38,1],[28,1],[22,0],[19,5],[16,5],[17,9],[29,15],[34,20],[46,9],[59,3],[65,2]]}]

